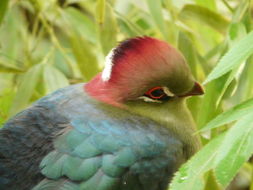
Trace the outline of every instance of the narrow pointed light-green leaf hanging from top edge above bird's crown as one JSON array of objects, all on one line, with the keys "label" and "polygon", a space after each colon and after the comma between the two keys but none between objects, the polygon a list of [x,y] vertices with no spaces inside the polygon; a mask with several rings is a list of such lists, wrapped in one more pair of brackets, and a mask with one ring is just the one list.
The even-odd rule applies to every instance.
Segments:
[{"label": "narrow pointed light-green leaf hanging from top edge above bird's crown", "polygon": [[155,24],[160,29],[161,33],[166,39],[167,33],[165,28],[165,22],[162,14],[162,2],[161,0],[146,0],[151,16],[153,17]]}]

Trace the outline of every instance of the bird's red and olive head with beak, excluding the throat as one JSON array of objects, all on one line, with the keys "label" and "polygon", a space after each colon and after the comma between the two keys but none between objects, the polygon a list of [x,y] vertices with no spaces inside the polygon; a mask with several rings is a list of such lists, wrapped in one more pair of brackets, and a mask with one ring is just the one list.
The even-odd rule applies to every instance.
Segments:
[{"label": "bird's red and olive head with beak, excluding the throat", "polygon": [[112,49],[103,72],[87,83],[85,90],[114,106],[136,101],[164,103],[203,94],[182,54],[151,37],[132,38]]}]

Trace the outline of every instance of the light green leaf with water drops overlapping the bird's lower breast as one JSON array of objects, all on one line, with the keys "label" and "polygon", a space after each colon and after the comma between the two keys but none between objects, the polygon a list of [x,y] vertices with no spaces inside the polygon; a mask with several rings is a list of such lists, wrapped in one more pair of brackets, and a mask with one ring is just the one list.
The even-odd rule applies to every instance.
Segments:
[{"label": "light green leaf with water drops overlapping the bird's lower breast", "polygon": [[224,135],[220,135],[213,139],[186,164],[184,164],[175,174],[175,177],[170,184],[170,190],[202,190],[205,185],[203,176],[214,166],[215,156],[223,138]]}]

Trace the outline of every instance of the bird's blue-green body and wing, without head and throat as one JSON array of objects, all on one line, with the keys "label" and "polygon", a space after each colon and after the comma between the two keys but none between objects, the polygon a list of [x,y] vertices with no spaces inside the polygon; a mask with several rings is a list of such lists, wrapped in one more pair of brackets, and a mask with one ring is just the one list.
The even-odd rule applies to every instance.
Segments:
[{"label": "bird's blue-green body and wing, without head and throat", "polygon": [[183,150],[169,129],[74,85],[0,130],[0,189],[164,190]]}]

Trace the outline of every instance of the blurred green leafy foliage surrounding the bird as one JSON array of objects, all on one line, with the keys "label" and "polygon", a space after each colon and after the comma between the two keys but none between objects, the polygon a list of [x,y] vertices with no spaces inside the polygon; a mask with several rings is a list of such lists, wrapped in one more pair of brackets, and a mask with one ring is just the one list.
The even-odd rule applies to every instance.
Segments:
[{"label": "blurred green leafy foliage surrounding the bird", "polygon": [[38,98],[88,81],[119,41],[154,36],[182,51],[206,91],[188,100],[206,146],[180,169],[170,189],[253,190],[252,5],[1,0],[0,125]]}]

